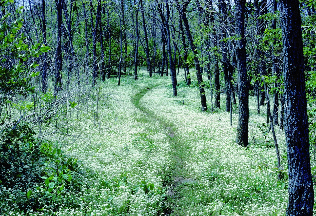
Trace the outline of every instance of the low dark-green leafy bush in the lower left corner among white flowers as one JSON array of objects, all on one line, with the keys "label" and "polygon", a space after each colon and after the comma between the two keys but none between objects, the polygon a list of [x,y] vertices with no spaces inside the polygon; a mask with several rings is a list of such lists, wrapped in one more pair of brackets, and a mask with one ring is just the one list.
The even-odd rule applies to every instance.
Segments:
[{"label": "low dark-green leafy bush in the lower left corner among white flowers", "polygon": [[[80,189],[80,161],[65,155],[58,145],[40,140],[25,123],[2,131],[0,139],[0,186],[20,191],[18,198],[9,205],[15,205],[16,211],[26,207],[40,210],[36,199],[47,199],[52,203],[62,202],[65,189]],[[43,181],[44,180],[44,181]]]}]

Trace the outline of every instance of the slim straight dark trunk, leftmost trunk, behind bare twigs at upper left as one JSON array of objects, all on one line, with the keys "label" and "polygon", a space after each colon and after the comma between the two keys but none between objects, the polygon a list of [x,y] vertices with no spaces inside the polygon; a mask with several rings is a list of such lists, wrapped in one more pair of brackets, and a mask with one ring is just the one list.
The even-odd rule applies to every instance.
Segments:
[{"label": "slim straight dark trunk, leftmost trunk, behind bare twigs at upper left", "polygon": [[[45,0],[42,0],[42,33],[43,33],[43,44],[47,46],[47,34],[46,34],[46,18],[45,18]],[[43,67],[42,67],[42,92],[46,92],[47,88],[47,52],[42,55]]]}]

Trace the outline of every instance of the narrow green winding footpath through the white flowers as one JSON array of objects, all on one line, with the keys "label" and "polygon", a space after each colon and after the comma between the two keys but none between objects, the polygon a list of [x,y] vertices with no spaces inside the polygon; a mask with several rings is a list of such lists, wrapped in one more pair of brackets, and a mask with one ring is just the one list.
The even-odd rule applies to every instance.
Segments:
[{"label": "narrow green winding footpath through the white flowers", "polygon": [[[185,166],[185,159],[188,157],[189,149],[183,145],[183,140],[177,135],[177,128],[173,123],[166,122],[161,117],[156,116],[149,109],[142,106],[140,103],[141,98],[156,87],[155,85],[146,87],[134,95],[132,103],[137,109],[144,114],[141,118],[144,122],[158,122],[160,125],[159,130],[163,130],[169,139],[170,151],[169,158],[171,159],[170,169],[163,177],[163,186],[167,188],[166,204],[164,207],[164,215],[180,216],[186,215],[190,210],[190,200],[185,199],[185,192],[192,191],[192,183],[194,180],[186,178],[187,169]],[[191,185],[191,186],[190,186]],[[188,189],[190,187],[190,189]],[[183,199],[182,199],[183,198]]]}]

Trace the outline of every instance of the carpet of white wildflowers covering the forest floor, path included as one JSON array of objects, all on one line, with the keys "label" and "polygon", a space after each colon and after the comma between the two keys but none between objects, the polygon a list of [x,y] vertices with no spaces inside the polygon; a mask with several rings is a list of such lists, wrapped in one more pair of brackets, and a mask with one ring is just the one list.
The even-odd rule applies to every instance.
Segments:
[{"label": "carpet of white wildflowers covering the forest floor, path included", "polygon": [[[201,112],[198,88],[178,82],[177,97],[170,77],[144,73],[138,81],[122,78],[120,86],[115,79],[101,83],[94,90],[98,103],[78,102],[67,130],[47,137],[78,159],[76,171],[68,169],[66,183],[58,186],[60,173],[50,171],[55,162],[43,163],[40,172],[47,177],[40,183],[3,186],[0,215],[285,215],[287,178],[277,178],[286,174],[284,135],[276,131],[285,168],[280,171],[264,126],[266,108],[258,115],[250,98],[251,142],[240,147],[238,107],[230,126],[224,94],[221,110]],[[209,92],[207,99],[211,107]]]}]

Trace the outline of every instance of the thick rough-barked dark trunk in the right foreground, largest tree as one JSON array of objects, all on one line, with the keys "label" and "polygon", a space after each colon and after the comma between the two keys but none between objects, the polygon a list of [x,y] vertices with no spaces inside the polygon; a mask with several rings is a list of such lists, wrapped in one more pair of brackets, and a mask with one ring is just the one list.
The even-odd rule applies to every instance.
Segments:
[{"label": "thick rough-barked dark trunk in the right foreground, largest tree", "polygon": [[298,0],[280,0],[284,55],[285,142],[289,166],[286,215],[313,215],[301,15]]}]

